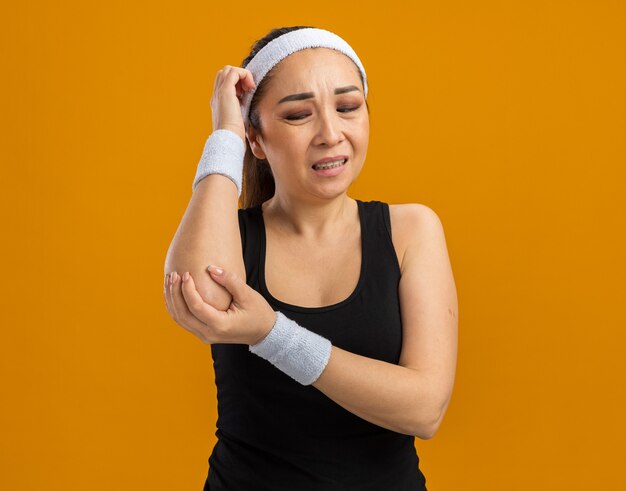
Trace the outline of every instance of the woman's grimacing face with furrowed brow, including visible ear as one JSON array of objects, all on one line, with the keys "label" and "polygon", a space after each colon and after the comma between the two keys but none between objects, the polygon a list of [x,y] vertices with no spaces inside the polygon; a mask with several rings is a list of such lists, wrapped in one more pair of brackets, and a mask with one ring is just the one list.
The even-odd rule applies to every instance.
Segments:
[{"label": "woman's grimacing face with furrowed brow, including visible ear", "polygon": [[[339,51],[297,51],[274,67],[258,103],[263,135],[251,126],[257,158],[268,160],[279,195],[328,199],[345,193],[367,153],[369,114],[354,62]],[[333,170],[313,164],[345,159]]]}]

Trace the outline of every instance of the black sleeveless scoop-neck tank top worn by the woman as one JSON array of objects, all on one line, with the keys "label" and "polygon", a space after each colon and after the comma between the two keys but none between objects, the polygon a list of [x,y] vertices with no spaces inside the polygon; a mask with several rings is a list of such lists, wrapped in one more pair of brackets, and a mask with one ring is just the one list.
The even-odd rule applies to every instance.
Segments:
[{"label": "black sleeveless scoop-neck tank top worn by the woman", "polygon": [[[356,202],[362,259],[350,296],[333,305],[301,307],[270,294],[261,205],[238,211],[246,281],[274,310],[334,346],[398,364],[400,265],[391,241],[389,205]],[[211,352],[218,441],[204,491],[426,490],[413,436],[359,418],[251,353],[248,345],[213,344]]]}]

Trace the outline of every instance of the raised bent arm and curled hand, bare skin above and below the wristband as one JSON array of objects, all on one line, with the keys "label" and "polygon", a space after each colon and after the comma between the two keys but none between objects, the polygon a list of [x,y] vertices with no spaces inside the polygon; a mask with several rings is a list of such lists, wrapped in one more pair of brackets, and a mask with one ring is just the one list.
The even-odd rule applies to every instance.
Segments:
[{"label": "raised bent arm and curled hand, bare skin above and below the wristband", "polygon": [[[254,87],[250,71],[227,65],[215,78],[211,110],[213,130],[246,133],[240,98]],[[238,219],[238,190],[228,177],[209,174],[195,187],[165,258],[165,274],[189,271],[205,302],[228,310],[231,294],[217,284],[206,268],[217,264],[246,280]]]}]

